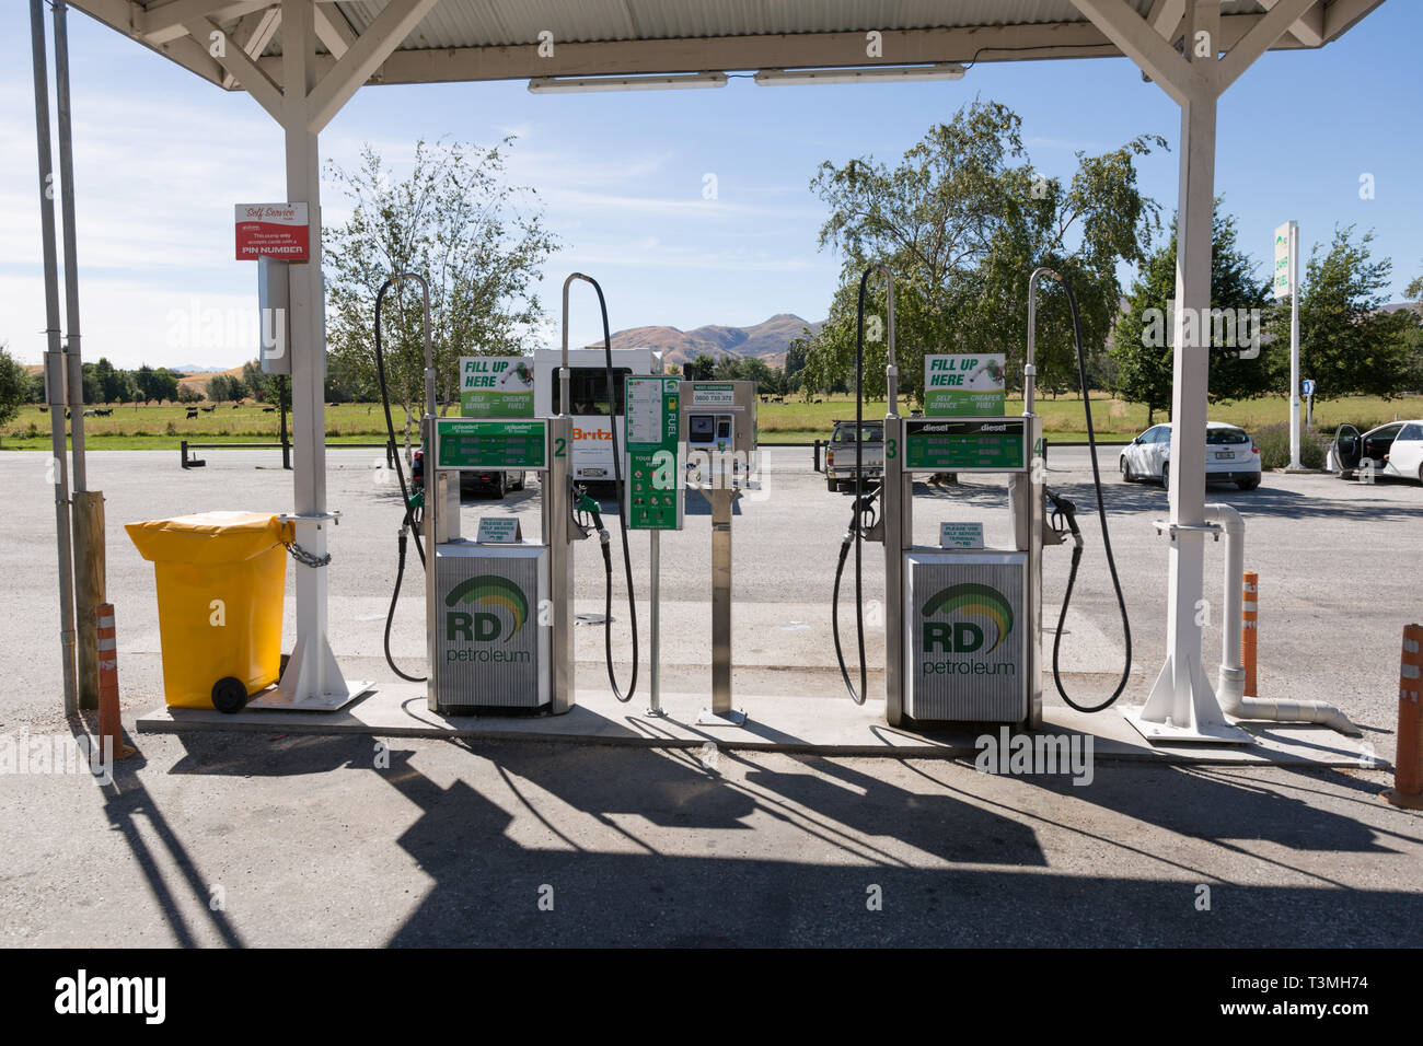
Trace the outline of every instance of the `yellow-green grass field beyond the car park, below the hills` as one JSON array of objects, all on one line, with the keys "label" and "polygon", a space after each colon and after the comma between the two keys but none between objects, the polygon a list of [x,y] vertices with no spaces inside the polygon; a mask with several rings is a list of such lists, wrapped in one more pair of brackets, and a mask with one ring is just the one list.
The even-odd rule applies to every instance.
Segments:
[{"label": "yellow-green grass field beyond the car park, below the hills", "polygon": [[[902,407],[908,413],[908,407]],[[1007,414],[1020,414],[1022,400],[1007,401]],[[84,418],[85,444],[94,450],[176,450],[179,440],[196,443],[248,443],[277,438],[277,416],[266,414],[259,404],[219,406],[212,413],[199,411],[186,418],[186,407],[139,404],[114,407],[111,417]],[[865,403],[865,417],[884,417],[885,401]],[[1087,438],[1081,400],[1073,397],[1039,398],[1037,413],[1054,443],[1081,443]],[[848,396],[821,397],[813,403],[763,403],[757,408],[761,440],[767,443],[811,443],[830,435],[835,418],[854,417],[855,401]],[[1289,404],[1284,397],[1215,404],[1211,418],[1231,421],[1247,430],[1288,420]],[[397,433],[403,414],[396,411]],[[1315,427],[1332,433],[1345,421],[1370,428],[1393,418],[1423,417],[1423,396],[1396,400],[1350,397],[1315,404]],[[1127,440],[1147,427],[1146,407],[1093,396],[1091,418],[1104,440]],[[1154,421],[1164,421],[1157,414]],[[384,416],[379,404],[347,403],[326,408],[329,443],[376,443],[386,437]],[[48,450],[50,416],[37,406],[26,406],[20,416],[0,430],[0,450]]]}]

